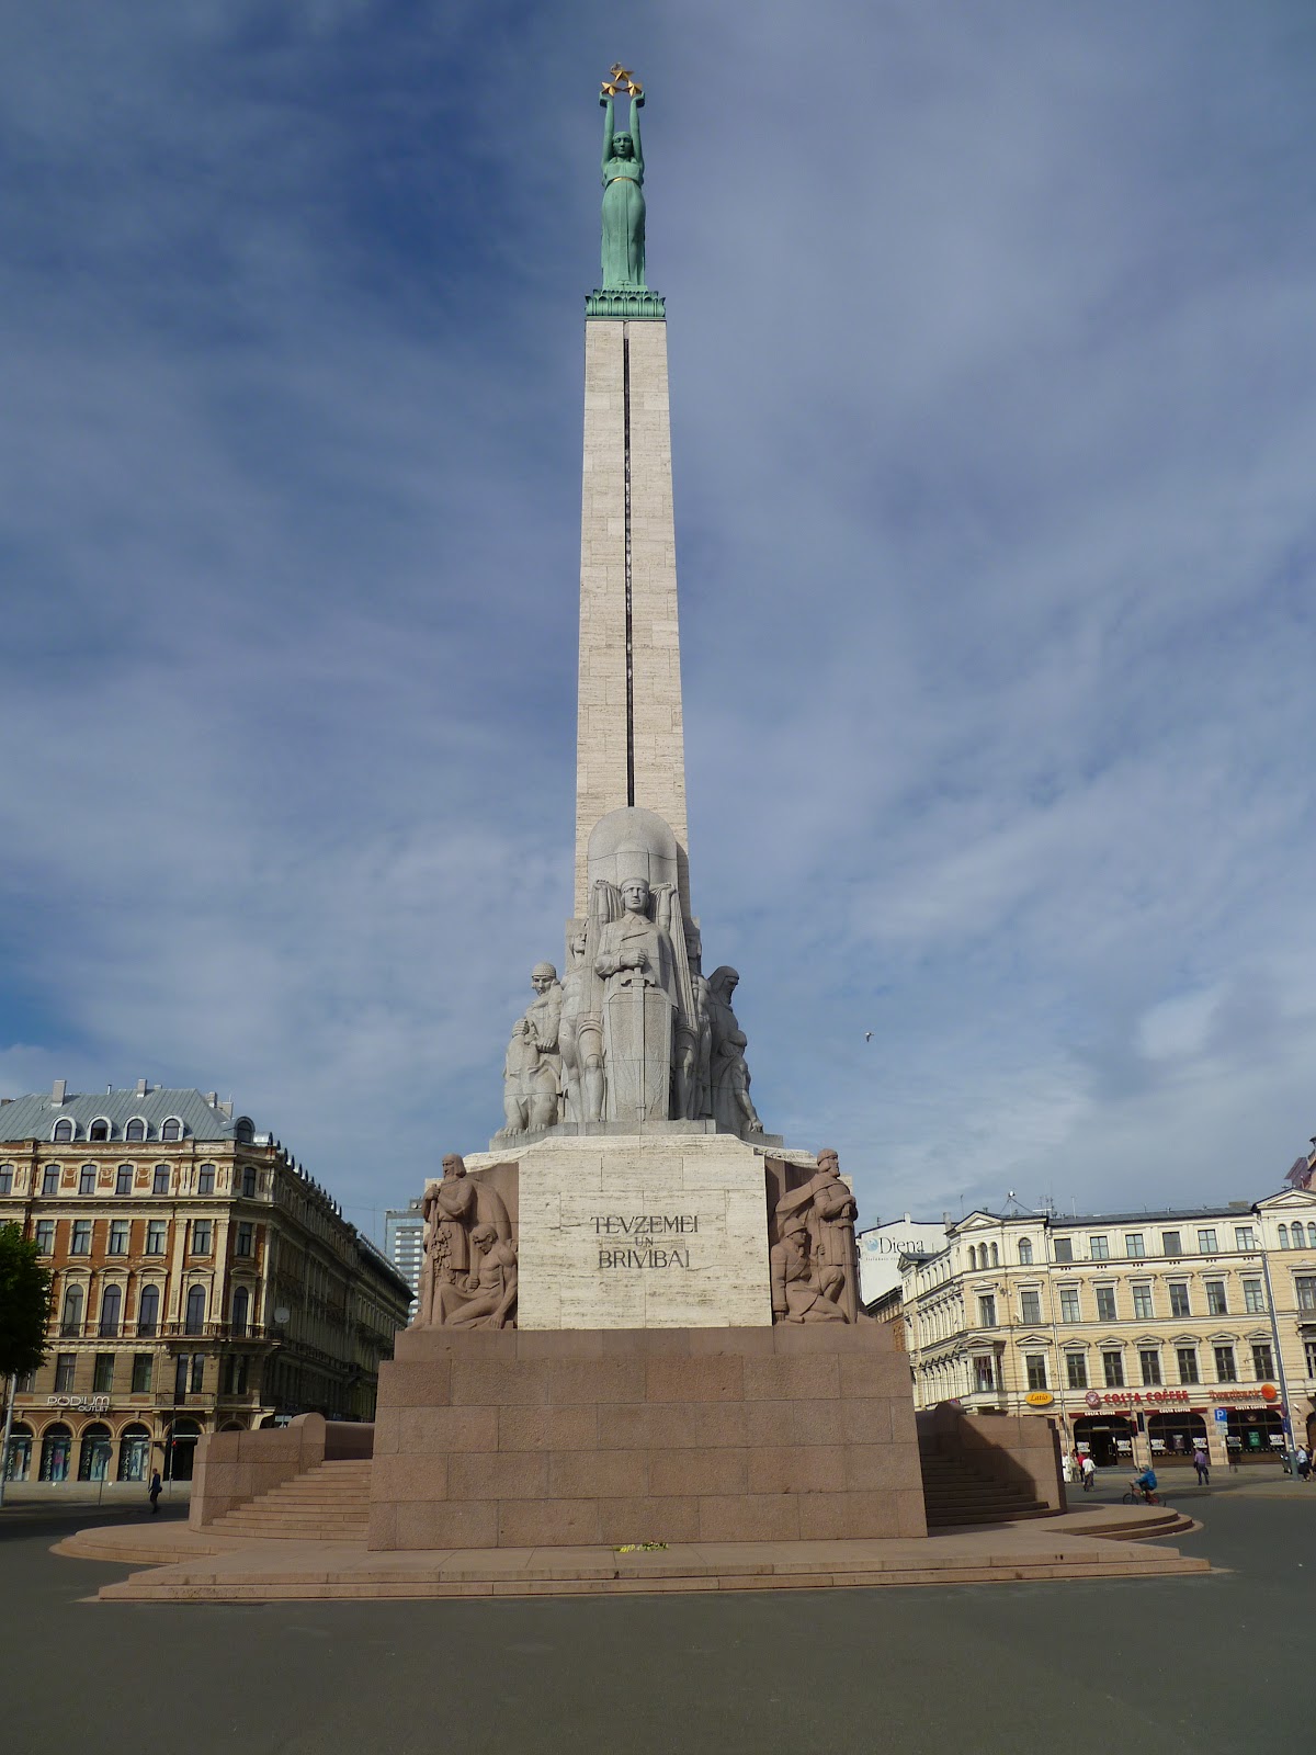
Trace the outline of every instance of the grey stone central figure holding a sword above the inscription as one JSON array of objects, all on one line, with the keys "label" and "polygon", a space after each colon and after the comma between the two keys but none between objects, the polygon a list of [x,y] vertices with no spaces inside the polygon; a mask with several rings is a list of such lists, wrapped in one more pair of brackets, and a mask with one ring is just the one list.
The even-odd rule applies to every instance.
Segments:
[{"label": "grey stone central figure holding a sword above the inscription", "polygon": [[672,883],[600,878],[591,892],[595,974],[604,981],[604,1074],[609,1121],[665,1121],[674,1113],[672,1049],[690,1030],[690,971],[681,899]]}]

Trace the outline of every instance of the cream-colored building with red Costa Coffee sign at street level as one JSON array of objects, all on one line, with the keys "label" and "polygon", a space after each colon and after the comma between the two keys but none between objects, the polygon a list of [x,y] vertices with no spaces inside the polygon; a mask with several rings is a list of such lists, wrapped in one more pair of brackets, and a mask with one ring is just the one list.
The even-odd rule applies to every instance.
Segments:
[{"label": "cream-colored building with red Costa Coffee sign at street level", "polygon": [[918,1408],[1058,1422],[1098,1464],[1277,1462],[1316,1436],[1316,1192],[969,1213],[902,1276]]}]

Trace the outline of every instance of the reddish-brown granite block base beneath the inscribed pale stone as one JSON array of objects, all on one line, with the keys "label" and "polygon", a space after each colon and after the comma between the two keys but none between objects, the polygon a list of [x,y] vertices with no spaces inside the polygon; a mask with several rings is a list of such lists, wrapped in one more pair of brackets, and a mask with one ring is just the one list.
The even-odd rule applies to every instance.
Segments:
[{"label": "reddish-brown granite block base beneath the inscribed pale stone", "polygon": [[411,1329],[381,1365],[370,1548],[925,1534],[886,1323]]}]

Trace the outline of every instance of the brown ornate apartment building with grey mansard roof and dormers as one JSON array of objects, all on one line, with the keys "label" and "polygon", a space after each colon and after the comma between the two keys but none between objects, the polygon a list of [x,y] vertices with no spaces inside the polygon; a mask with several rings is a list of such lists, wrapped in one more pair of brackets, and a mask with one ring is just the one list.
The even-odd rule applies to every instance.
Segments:
[{"label": "brown ornate apartment building with grey mansard roof and dormers", "polygon": [[202,1432],[374,1416],[411,1288],[330,1195],[211,1092],[0,1102],[0,1225],[54,1274],[9,1479],[191,1474]]}]

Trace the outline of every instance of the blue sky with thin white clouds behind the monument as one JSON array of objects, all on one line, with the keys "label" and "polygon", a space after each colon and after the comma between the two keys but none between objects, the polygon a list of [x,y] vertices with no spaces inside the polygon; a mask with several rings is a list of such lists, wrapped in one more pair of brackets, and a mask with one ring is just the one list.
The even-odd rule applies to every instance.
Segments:
[{"label": "blue sky with thin white clouds behind the monument", "polygon": [[498,1125],[570,909],[623,56],[695,907],[767,1125],[867,1223],[1277,1186],[1311,7],[5,11],[0,1092],[218,1086],[367,1228]]}]

